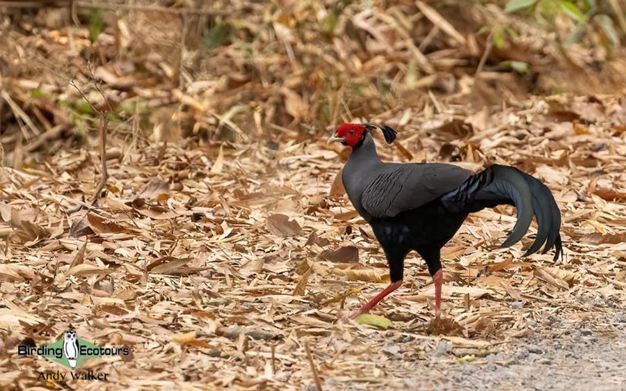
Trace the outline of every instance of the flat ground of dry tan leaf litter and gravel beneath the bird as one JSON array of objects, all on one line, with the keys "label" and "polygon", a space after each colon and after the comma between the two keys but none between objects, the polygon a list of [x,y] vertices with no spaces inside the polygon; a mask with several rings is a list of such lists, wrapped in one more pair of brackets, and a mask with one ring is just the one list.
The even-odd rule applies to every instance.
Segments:
[{"label": "flat ground of dry tan leaf litter and gravel beneath the bird", "polygon": [[459,325],[448,335],[428,327],[433,285],[417,256],[407,284],[374,310],[389,328],[338,321],[388,280],[336,180],[340,145],[111,145],[95,206],[97,150],[61,150],[2,171],[10,237],[0,258],[0,383],[33,387],[42,372],[61,371],[17,356],[17,344],[51,343],[74,328],[131,353],[77,369],[108,373],[108,383],[66,379],[58,388],[296,390],[314,388],[312,365],[329,390],[623,388],[623,97],[444,110],[388,119],[398,145],[379,143],[380,154],[440,161],[449,124],[463,118],[468,133],[452,142],[453,163],[515,164],[540,178],[561,207],[565,248],[562,260],[524,259],[534,228],[522,246],[497,246],[513,209],[472,214],[443,252],[444,316]]}]

